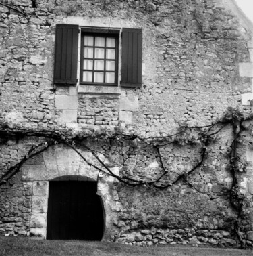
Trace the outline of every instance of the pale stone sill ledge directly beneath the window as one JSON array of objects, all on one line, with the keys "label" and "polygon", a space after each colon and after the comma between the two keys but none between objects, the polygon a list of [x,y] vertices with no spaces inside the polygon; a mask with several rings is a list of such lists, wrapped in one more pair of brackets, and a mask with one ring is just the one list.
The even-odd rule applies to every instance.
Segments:
[{"label": "pale stone sill ledge directly beneath the window", "polygon": [[117,86],[79,85],[78,93],[100,93],[120,95],[121,89]]}]

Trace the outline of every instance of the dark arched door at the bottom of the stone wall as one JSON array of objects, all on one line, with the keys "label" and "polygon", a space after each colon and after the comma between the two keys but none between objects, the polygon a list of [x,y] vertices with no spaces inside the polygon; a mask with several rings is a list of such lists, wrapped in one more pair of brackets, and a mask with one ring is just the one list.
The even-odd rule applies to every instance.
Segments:
[{"label": "dark arched door at the bottom of the stone wall", "polygon": [[103,229],[96,182],[49,182],[47,239],[101,240]]}]

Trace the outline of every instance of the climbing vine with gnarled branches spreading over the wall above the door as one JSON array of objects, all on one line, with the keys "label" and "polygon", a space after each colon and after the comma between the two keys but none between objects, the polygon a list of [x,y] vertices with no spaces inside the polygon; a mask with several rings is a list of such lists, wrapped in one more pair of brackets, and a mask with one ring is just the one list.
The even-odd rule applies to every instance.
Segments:
[{"label": "climbing vine with gnarled branches spreading over the wall above the door", "polygon": [[[235,110],[233,108],[228,108],[226,114],[223,116],[223,118],[217,120],[215,123],[211,123],[209,125],[202,125],[202,126],[193,126],[189,127],[188,125],[181,125],[179,128],[179,131],[173,134],[168,134],[165,136],[155,136],[155,137],[141,137],[140,135],[136,134],[126,134],[117,131],[116,133],[108,134],[105,133],[104,135],[94,135],[91,137],[93,140],[115,140],[115,141],[128,141],[128,142],[134,142],[136,145],[138,143],[146,143],[150,145],[154,150],[156,150],[157,159],[159,160],[159,165],[161,168],[161,174],[152,180],[149,179],[140,179],[133,178],[130,175],[117,175],[111,171],[111,169],[105,164],[105,161],[99,156],[98,152],[90,146],[88,146],[87,143],[84,143],[84,140],[90,139],[90,135],[83,134],[83,135],[74,135],[72,131],[27,131],[25,129],[10,129],[6,125],[2,126],[2,129],[0,129],[0,139],[2,143],[5,143],[5,140],[7,140],[7,137],[40,137],[43,138],[45,142],[42,142],[40,144],[37,144],[35,146],[32,146],[30,150],[28,150],[27,154],[22,158],[22,160],[19,163],[16,163],[16,165],[13,165],[8,169],[6,173],[2,175],[0,178],[0,186],[8,182],[16,173],[18,173],[21,170],[22,165],[24,163],[38,155],[41,154],[43,151],[47,150],[49,147],[55,145],[55,144],[65,144],[69,146],[69,148],[72,148],[80,158],[82,158],[83,161],[85,161],[88,165],[91,167],[94,167],[94,169],[100,171],[101,173],[104,173],[106,175],[109,175],[111,177],[114,177],[119,182],[122,182],[124,184],[127,184],[128,186],[153,186],[157,189],[166,189],[169,188],[175,184],[177,184],[179,181],[186,182],[188,186],[196,190],[197,192],[200,192],[197,188],[194,187],[194,184],[190,182],[189,176],[194,173],[197,169],[202,168],[202,164],[206,160],[206,156],[208,154],[208,148],[210,146],[210,143],[216,140],[216,136],[225,128],[231,128],[233,131],[233,140],[230,145],[230,154],[229,154],[229,166],[230,166],[230,172],[231,176],[233,177],[233,183],[230,191],[230,200],[231,205],[237,209],[238,215],[237,220],[235,221],[234,226],[234,232],[237,235],[238,240],[240,241],[240,244],[242,247],[245,247],[245,239],[241,234],[241,228],[240,228],[240,221],[243,217],[243,206],[244,206],[244,195],[240,193],[239,190],[239,184],[238,184],[238,173],[243,171],[243,167],[240,163],[240,157],[237,153],[237,146],[238,146],[238,140],[239,137],[244,131],[244,122],[249,121],[252,119],[252,116],[243,116],[243,114],[239,110]],[[181,173],[177,173],[176,177],[171,179],[171,171],[167,167],[165,167],[165,161],[163,153],[161,152],[161,149],[169,144],[199,144],[200,145],[200,158],[198,159],[197,163],[189,170],[189,171],[183,171]],[[84,154],[80,152],[78,149],[78,146],[81,148],[84,148],[85,150],[88,150],[94,158],[96,159],[96,163],[90,162]]]}]

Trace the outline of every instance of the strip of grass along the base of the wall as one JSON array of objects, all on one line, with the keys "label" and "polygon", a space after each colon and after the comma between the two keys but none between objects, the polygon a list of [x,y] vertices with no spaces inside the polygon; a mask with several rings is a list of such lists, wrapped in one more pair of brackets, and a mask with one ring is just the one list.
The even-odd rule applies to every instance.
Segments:
[{"label": "strip of grass along the base of the wall", "polygon": [[252,251],[161,245],[136,247],[110,242],[88,242],[78,240],[37,240],[24,237],[0,236],[0,255],[47,256],[47,255],[194,255],[194,256],[240,256],[251,255]]}]

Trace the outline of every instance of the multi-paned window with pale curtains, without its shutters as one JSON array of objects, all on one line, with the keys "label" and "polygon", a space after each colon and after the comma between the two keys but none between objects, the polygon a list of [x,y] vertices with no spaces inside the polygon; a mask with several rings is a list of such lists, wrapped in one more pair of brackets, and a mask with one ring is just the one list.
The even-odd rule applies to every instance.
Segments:
[{"label": "multi-paned window with pale curtains, without its shutters", "polygon": [[82,33],[80,84],[117,85],[119,35]]}]

